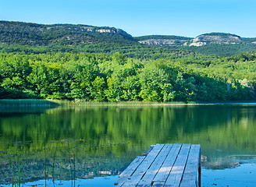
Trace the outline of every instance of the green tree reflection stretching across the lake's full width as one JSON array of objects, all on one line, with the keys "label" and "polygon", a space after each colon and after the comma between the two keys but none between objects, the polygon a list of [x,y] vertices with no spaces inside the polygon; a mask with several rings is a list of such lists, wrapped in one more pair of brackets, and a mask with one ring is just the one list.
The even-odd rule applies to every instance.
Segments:
[{"label": "green tree reflection stretching across the lake's full width", "polygon": [[253,150],[254,118],[253,108],[235,106],[70,107],[2,118],[0,128],[5,136],[2,150],[16,150],[21,144],[12,143],[20,141],[23,150],[41,149],[60,139],[80,139],[89,145],[130,143],[148,148],[182,142]]}]

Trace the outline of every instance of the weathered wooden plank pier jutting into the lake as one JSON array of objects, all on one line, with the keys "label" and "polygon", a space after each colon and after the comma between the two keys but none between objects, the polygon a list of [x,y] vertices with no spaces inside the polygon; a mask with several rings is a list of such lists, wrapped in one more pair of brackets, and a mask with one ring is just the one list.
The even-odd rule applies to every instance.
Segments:
[{"label": "weathered wooden plank pier jutting into the lake", "polygon": [[195,144],[157,144],[126,168],[117,186],[201,186],[201,149]]}]

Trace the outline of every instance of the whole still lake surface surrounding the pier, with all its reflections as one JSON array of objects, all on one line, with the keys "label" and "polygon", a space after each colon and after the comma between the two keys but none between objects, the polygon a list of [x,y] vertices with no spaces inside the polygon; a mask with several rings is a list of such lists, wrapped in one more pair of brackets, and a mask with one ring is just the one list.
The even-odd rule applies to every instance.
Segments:
[{"label": "whole still lake surface surrounding the pier, with all its reflections", "polygon": [[0,108],[0,186],[114,186],[156,143],[201,144],[202,186],[256,186],[256,104]]}]

